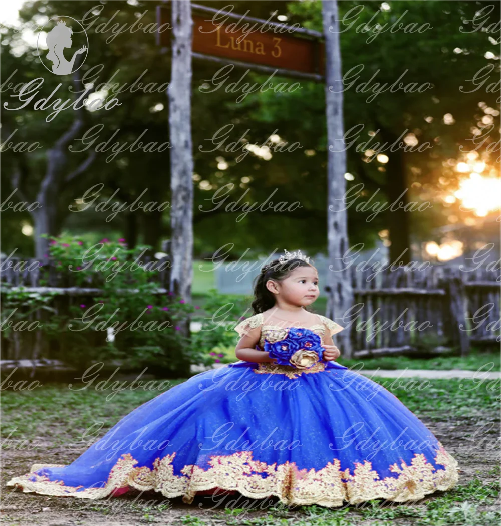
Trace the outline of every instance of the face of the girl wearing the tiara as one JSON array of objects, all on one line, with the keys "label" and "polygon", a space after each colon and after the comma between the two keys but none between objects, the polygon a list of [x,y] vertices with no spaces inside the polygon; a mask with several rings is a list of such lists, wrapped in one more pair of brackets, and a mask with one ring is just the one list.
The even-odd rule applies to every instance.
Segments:
[{"label": "face of the girl wearing the tiara", "polygon": [[318,272],[312,266],[295,268],[282,281],[268,280],[266,286],[280,299],[293,304],[306,306],[312,304],[320,294]]}]

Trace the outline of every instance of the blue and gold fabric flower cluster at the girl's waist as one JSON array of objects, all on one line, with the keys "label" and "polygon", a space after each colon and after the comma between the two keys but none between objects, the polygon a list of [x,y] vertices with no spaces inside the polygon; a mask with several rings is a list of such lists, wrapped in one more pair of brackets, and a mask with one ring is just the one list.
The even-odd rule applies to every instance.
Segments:
[{"label": "blue and gold fabric flower cluster at the girl's waist", "polygon": [[288,365],[297,369],[308,369],[322,359],[324,348],[315,332],[309,329],[291,328],[287,338],[270,343],[265,341],[264,350],[279,365]]}]

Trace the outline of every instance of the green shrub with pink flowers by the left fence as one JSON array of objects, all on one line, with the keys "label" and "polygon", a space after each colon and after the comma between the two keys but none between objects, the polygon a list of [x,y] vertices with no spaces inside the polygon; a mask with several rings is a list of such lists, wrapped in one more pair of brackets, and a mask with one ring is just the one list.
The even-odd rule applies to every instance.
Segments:
[{"label": "green shrub with pink flowers by the left fence", "polygon": [[[52,295],[38,298],[37,308],[52,309],[43,328],[56,344],[51,348],[58,349],[58,356],[53,352],[52,357],[75,366],[118,359],[131,368],[149,367],[163,376],[186,371],[186,363],[189,368],[189,361],[199,359],[198,351],[191,356],[189,340],[183,335],[184,322],[194,307],[172,292],[158,294],[158,272],[168,262],[144,264],[143,255],[151,247],[128,249],[125,239],[103,239],[95,245],[78,237],[49,239],[49,265],[40,285],[49,284],[48,267],[56,273],[58,287],[100,290],[77,290],[76,295],[54,301],[47,299]],[[13,297],[9,305],[15,302]]]}]

